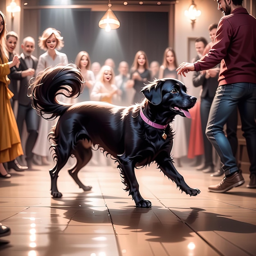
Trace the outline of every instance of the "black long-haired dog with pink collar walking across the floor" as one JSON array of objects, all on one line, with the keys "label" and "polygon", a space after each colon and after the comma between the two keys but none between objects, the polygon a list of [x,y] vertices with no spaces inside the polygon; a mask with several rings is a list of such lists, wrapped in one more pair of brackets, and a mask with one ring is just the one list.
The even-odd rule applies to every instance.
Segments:
[{"label": "black long-haired dog with pink collar walking across the floor", "polygon": [[170,156],[173,146],[170,123],[175,115],[189,117],[188,109],[196,102],[195,97],[186,94],[182,82],[176,79],[155,79],[142,89],[144,101],[130,107],[94,101],[74,105],[58,102],[58,94],[67,97],[79,94],[81,83],[81,73],[70,64],[45,70],[36,77],[32,86],[36,110],[41,115],[51,114],[51,118],[59,116],[56,126],[49,133],[56,162],[49,171],[54,198],[62,196],[57,189],[58,172],[72,155],[77,162],[69,170],[70,175],[84,191],[91,189],[91,186],[82,184],[77,173],[91,159],[93,145],[99,145],[119,163],[125,190],[132,195],[137,207],[151,207],[151,202],[144,200],[139,193],[135,168],[154,161],[186,194],[200,193],[200,190],[191,189],[186,184],[173,166]]}]

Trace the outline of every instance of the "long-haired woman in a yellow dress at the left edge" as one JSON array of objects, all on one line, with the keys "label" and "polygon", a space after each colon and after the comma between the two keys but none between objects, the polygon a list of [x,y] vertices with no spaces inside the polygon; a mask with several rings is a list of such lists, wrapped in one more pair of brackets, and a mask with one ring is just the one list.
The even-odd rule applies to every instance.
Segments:
[{"label": "long-haired woman in a yellow dress at the left edge", "polygon": [[11,108],[10,99],[13,93],[9,90],[10,80],[7,75],[10,68],[19,65],[18,56],[8,62],[8,52],[5,43],[6,18],[0,11],[0,177],[9,178],[3,163],[9,162],[19,155],[23,155],[20,135],[16,119]]}]

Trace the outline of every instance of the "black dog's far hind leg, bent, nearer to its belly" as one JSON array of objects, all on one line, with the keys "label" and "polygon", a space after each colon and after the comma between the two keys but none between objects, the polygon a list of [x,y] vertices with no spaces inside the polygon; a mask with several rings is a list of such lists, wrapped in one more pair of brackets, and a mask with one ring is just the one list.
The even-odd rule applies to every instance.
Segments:
[{"label": "black dog's far hind leg, bent, nearer to its belly", "polygon": [[88,164],[90,159],[92,158],[92,149],[91,148],[83,148],[81,145],[76,146],[76,151],[73,153],[76,157],[76,164],[75,166],[68,170],[70,176],[74,179],[76,184],[78,184],[79,188],[83,189],[84,191],[89,191],[92,189],[92,186],[85,186],[79,177],[77,176],[78,172]]}]

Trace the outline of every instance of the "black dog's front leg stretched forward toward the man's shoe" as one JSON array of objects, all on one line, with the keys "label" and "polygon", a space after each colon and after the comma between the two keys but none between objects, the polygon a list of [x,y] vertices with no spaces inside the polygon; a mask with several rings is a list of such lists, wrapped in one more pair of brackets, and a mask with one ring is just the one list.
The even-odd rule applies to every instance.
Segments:
[{"label": "black dog's front leg stretched forward toward the man's shoe", "polygon": [[188,195],[198,195],[200,193],[199,189],[191,189],[184,178],[178,171],[175,169],[171,158],[164,158],[163,160],[157,160],[157,164],[159,165],[160,170],[171,180],[173,180],[177,187],[179,187],[182,191],[184,191]]}]

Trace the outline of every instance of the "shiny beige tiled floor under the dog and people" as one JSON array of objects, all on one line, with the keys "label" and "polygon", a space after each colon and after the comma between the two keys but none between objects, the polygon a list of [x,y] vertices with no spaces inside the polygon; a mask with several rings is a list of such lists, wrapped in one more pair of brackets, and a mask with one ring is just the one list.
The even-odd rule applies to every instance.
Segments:
[{"label": "shiny beige tiled floor under the dog and people", "polygon": [[[68,166],[67,166],[68,167]],[[207,187],[221,177],[177,168],[201,193],[180,193],[155,165],[137,170],[141,195],[152,208],[136,208],[114,167],[86,166],[83,192],[64,168],[50,195],[49,166],[0,179],[1,256],[253,256],[256,255],[256,190],[246,183],[227,193]]]}]

